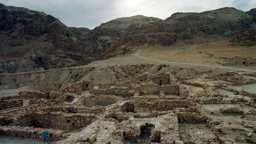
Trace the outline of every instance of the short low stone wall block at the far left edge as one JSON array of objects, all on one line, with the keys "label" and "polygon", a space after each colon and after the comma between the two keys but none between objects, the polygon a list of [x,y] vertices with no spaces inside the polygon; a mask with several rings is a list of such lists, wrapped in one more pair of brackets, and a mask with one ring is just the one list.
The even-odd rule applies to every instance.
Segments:
[{"label": "short low stone wall block at the far left edge", "polygon": [[0,101],[0,110],[10,109],[12,107],[23,106],[23,99],[9,99]]}]

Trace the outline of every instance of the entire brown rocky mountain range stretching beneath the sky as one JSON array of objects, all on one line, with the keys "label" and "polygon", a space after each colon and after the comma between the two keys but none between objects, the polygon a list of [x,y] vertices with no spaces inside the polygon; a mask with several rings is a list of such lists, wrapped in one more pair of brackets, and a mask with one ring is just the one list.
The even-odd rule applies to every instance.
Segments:
[{"label": "entire brown rocky mountain range stretching beneath the sky", "polygon": [[93,30],[67,27],[44,12],[0,4],[0,73],[73,67],[140,46],[232,39],[256,29],[256,9],[178,12],[162,20],[142,15],[117,18]]}]

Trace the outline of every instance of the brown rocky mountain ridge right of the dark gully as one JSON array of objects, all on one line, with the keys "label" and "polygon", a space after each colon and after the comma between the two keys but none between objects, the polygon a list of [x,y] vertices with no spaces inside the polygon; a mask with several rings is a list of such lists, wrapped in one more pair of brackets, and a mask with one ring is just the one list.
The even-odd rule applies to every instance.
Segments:
[{"label": "brown rocky mountain ridge right of the dark gully", "polygon": [[89,37],[101,48],[97,59],[106,59],[141,45],[232,39],[240,30],[256,29],[255,14],[256,9],[243,12],[226,7],[201,13],[178,12],[165,20],[137,15],[101,24],[90,31]]}]

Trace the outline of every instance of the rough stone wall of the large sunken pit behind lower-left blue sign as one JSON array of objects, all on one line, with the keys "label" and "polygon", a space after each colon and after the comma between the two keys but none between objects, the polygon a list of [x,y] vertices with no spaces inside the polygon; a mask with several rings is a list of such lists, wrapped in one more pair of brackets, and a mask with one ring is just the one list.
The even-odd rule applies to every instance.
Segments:
[{"label": "rough stone wall of the large sunken pit behind lower-left blue sign", "polygon": [[34,126],[35,128],[52,128],[64,131],[71,131],[75,128],[82,128],[90,123],[95,115],[92,114],[68,114],[52,111],[37,111],[34,113],[26,113],[15,115],[13,119],[15,125],[19,126]]}]

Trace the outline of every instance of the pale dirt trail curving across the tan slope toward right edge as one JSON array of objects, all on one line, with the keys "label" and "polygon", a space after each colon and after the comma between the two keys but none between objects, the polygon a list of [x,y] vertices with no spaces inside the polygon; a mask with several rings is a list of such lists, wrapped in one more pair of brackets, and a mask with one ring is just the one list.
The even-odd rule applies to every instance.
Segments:
[{"label": "pale dirt trail curving across the tan slope toward right edge", "polygon": [[236,71],[245,71],[245,72],[256,72],[255,67],[246,67],[246,66],[225,66],[221,64],[212,64],[210,65],[210,62],[196,62],[196,63],[189,63],[189,62],[174,62],[174,61],[165,61],[165,60],[159,60],[156,58],[149,58],[144,57],[140,55],[141,50],[139,50],[137,53],[133,54],[136,57],[144,58],[147,60],[154,60],[158,62],[164,62],[168,63],[170,65],[180,65],[182,67],[207,67],[207,68],[215,68],[215,69],[227,69],[230,70],[230,72],[236,72]]}]

